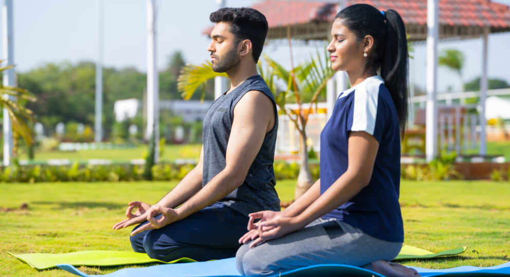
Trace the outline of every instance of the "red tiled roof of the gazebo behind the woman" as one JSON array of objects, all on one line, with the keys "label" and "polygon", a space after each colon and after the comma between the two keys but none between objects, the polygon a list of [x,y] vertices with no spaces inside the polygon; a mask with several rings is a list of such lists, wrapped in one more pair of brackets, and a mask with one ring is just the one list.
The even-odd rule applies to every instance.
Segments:
[{"label": "red tiled roof of the gazebo behind the woman", "polygon": [[[347,0],[347,5],[366,3],[379,10],[396,10],[406,25],[427,25],[427,0]],[[338,6],[327,2],[261,1],[252,8],[262,12],[269,28],[310,22],[331,22]],[[440,0],[439,22],[443,26],[490,27],[510,31],[510,8],[489,0]],[[204,30],[210,34],[212,28]]]}]

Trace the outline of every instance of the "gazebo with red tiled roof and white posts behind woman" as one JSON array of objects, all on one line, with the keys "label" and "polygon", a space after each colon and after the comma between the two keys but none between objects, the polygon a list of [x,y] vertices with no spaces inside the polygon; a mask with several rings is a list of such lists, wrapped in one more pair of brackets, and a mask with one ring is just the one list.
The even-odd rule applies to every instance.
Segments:
[{"label": "gazebo with red tiled roof and white posts behind woman", "polygon": [[[396,10],[403,18],[410,41],[427,41],[427,126],[438,125],[436,108],[437,42],[439,39],[483,38],[480,94],[480,155],[485,147],[485,97],[487,83],[487,36],[510,31],[508,6],[489,0],[340,0],[335,2],[261,1],[253,6],[268,21],[267,39],[287,38],[303,41],[327,40],[335,14],[343,7],[366,3],[379,10]],[[210,34],[212,28],[204,30]],[[337,88],[345,87],[344,75],[337,74]],[[330,82],[328,107],[336,99]],[[437,155],[437,127],[427,128],[427,160]]]}]

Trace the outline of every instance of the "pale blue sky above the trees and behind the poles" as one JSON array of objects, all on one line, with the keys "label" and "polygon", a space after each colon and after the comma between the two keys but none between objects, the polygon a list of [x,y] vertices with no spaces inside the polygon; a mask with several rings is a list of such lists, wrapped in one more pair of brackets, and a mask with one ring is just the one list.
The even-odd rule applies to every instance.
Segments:
[{"label": "pale blue sky above the trees and behind the poles", "polygon": [[[147,69],[147,14],[145,0],[13,0],[14,63],[16,70],[27,72],[46,63],[96,61],[98,57],[99,1],[104,5],[103,65]],[[226,0],[229,7],[250,6],[257,0]],[[510,0],[497,0],[510,5]],[[3,1],[0,1],[3,4]],[[191,64],[209,59],[210,38],[202,31],[212,26],[209,14],[218,9],[216,0],[157,0],[157,65],[166,68],[170,55],[181,51]],[[2,17],[2,15],[0,15]],[[0,31],[1,32],[1,31]],[[510,32],[490,34],[489,78],[510,83]],[[463,80],[480,76],[482,39],[441,42],[439,51],[458,49],[466,60]],[[313,46],[293,46],[294,64],[308,60]],[[268,44],[268,54],[283,66],[290,67],[288,48]],[[411,60],[411,82],[425,88],[425,43],[414,46]],[[458,90],[456,73],[440,68],[438,91]]]}]

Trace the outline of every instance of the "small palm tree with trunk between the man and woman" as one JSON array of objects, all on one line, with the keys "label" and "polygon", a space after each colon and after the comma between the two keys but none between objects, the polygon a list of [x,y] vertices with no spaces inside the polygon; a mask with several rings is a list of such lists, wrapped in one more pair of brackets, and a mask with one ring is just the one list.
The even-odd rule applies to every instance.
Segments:
[{"label": "small palm tree with trunk between the man and woman", "polygon": [[[325,48],[324,48],[325,50]],[[266,67],[258,63],[259,73],[271,89],[280,113],[286,115],[293,122],[299,132],[300,138],[300,171],[296,184],[295,199],[298,199],[309,187],[313,185],[312,175],[308,166],[308,146],[306,144],[306,123],[308,116],[312,113],[313,104],[321,92],[325,90],[327,80],[335,72],[331,69],[331,62],[327,58],[329,54],[312,56],[311,61],[301,64],[290,71],[284,69],[280,64],[264,55]],[[217,73],[212,70],[212,64],[206,62],[201,66],[187,65],[181,70],[178,78],[177,88],[182,92],[185,99],[189,99],[193,93],[202,86],[204,95],[205,82],[216,76],[227,76],[225,73]],[[281,89],[278,81],[286,84]],[[298,104],[298,110],[285,108],[287,98],[294,96]],[[307,108],[303,108],[302,98],[310,97],[311,101]]]}]

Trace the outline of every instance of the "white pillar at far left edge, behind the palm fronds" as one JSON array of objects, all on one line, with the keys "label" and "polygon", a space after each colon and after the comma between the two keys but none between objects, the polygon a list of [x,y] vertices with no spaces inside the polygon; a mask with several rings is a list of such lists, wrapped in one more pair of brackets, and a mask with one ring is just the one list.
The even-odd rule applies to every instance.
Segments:
[{"label": "white pillar at far left edge, behind the palm fronds", "polygon": [[[7,65],[14,65],[14,46],[13,46],[13,11],[12,11],[12,0],[5,0],[4,7],[2,9],[3,17],[3,28],[2,28],[2,48],[3,48],[3,60],[7,61]],[[14,80],[14,68],[4,70],[4,86],[15,86]],[[4,94],[3,97],[14,100],[13,96]],[[9,112],[4,108],[4,166],[8,166],[11,162],[12,156],[12,125]]]}]

